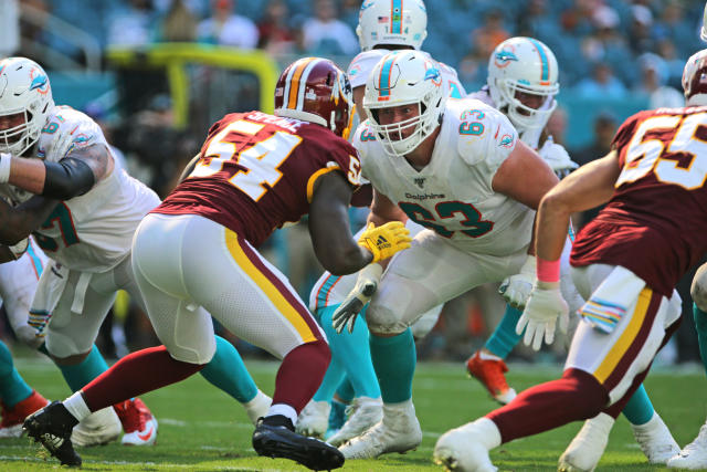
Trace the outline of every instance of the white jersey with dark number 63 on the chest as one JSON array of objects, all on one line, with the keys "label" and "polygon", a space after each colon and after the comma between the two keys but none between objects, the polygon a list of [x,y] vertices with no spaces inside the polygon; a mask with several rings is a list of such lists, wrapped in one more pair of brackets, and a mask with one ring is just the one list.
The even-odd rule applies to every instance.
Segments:
[{"label": "white jersey with dark number 63 on the chest", "polygon": [[503,193],[492,181],[518,140],[497,109],[471,98],[447,99],[432,160],[415,170],[388,156],[363,122],[354,146],[363,176],[410,219],[462,251],[507,255],[530,242],[535,211]]}]

